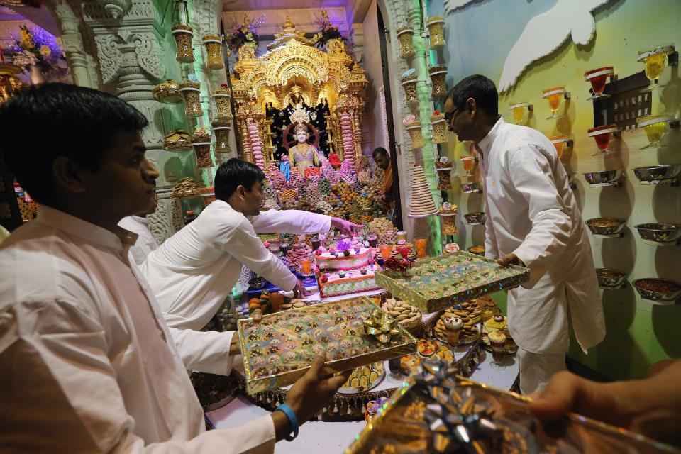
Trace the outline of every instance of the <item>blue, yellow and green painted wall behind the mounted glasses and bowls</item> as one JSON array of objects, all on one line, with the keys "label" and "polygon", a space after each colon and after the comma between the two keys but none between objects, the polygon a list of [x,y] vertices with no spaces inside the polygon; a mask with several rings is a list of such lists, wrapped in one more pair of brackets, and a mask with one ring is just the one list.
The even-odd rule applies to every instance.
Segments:
[{"label": "blue, yellow and green painted wall behind the mounted glasses and bowls", "polygon": [[[526,23],[539,13],[550,10],[555,0],[473,2],[463,9],[445,16],[443,0],[431,2],[431,15],[445,16],[445,38],[448,48],[436,57],[448,64],[448,85],[470,74],[485,74],[499,81],[506,55]],[[592,249],[597,267],[613,267],[629,272],[629,281],[639,277],[666,277],[681,281],[681,247],[655,248],[641,243],[633,227],[644,222],[681,222],[681,188],[641,187],[631,169],[658,162],[681,162],[681,140],[678,130],[668,135],[666,150],[639,150],[646,144],[641,131],[626,132],[616,141],[619,152],[604,160],[592,157],[596,151],[587,129],[593,126],[592,102],[588,101],[589,84],[583,74],[587,70],[613,65],[619,77],[643,70],[636,62],[637,51],[652,45],[677,43],[681,45],[681,1],[677,0],[614,0],[594,13],[597,34],[592,43],[577,46],[568,39],[552,55],[538,60],[526,70],[520,82],[509,94],[500,98],[500,111],[506,121],[512,121],[507,106],[515,99],[526,99],[534,104],[528,126],[544,134],[569,135],[575,140],[572,153],[564,157],[568,172],[576,172],[577,198],[585,219],[598,216],[627,218],[624,238],[592,238]],[[541,37],[537,38],[541,40]],[[681,81],[679,67],[665,69],[661,84],[668,87],[653,98],[653,114],[681,114]],[[550,114],[541,91],[565,85],[572,99],[565,104],[566,116],[558,122],[546,120]],[[443,153],[450,157],[463,154],[463,147],[451,136]],[[582,177],[584,172],[604,169],[628,169],[623,188],[589,188]],[[464,172],[458,165],[458,175]],[[465,179],[464,179],[465,181]],[[455,179],[454,184],[459,183]],[[482,208],[482,197],[454,192],[453,203],[458,203],[465,214]],[[460,225],[460,244],[482,244],[484,228]],[[636,290],[605,292],[603,296],[607,321],[605,341],[589,355],[580,352],[572,342],[570,356],[612,379],[645,375],[654,362],[681,356],[681,342],[676,338],[681,326],[681,305],[653,306],[641,301]],[[502,299],[505,307],[505,298]]]}]

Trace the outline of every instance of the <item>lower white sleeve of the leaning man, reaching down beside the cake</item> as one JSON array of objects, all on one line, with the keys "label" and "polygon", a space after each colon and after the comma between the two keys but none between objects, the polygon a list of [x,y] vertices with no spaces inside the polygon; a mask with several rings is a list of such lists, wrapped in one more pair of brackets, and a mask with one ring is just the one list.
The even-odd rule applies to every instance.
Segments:
[{"label": "lower white sleeve of the leaning man, reaching down beside the cake", "polygon": [[280,289],[290,292],[296,287],[298,279],[279,258],[262,245],[248,219],[241,221],[224,240],[223,248],[249,270],[265,277]]}]

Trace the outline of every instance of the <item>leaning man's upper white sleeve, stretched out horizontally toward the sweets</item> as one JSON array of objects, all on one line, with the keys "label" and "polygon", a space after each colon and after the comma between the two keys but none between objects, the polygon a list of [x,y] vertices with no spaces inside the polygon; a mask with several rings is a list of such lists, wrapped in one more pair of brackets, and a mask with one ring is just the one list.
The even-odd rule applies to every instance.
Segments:
[{"label": "leaning man's upper white sleeve, stretched out horizontally toward the sweets", "polygon": [[300,210],[260,211],[250,216],[255,233],[326,233],[331,228],[331,216]]}]

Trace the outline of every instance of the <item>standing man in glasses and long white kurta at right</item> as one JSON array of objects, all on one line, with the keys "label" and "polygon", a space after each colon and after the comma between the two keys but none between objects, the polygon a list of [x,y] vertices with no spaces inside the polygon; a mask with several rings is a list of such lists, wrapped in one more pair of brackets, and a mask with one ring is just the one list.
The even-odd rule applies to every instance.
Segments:
[{"label": "standing man in glasses and long white kurta at right", "polygon": [[530,269],[509,291],[509,331],[519,345],[521,391],[535,392],[565,368],[569,327],[585,352],[605,335],[594,260],[567,173],[538,131],[506,123],[482,76],[450,92],[445,115],[473,140],[485,188],[485,255]]}]

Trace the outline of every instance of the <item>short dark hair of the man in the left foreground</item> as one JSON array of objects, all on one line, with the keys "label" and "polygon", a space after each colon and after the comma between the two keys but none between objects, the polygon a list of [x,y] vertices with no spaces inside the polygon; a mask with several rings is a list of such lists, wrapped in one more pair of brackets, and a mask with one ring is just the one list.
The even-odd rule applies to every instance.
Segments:
[{"label": "short dark hair of the man in the left foreground", "polygon": [[140,111],[113,94],[40,84],[0,105],[0,153],[21,186],[45,203],[54,190],[56,157],[70,157],[96,171],[116,133],[140,131],[147,125]]}]

